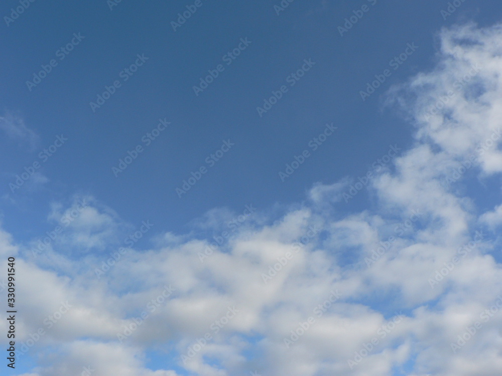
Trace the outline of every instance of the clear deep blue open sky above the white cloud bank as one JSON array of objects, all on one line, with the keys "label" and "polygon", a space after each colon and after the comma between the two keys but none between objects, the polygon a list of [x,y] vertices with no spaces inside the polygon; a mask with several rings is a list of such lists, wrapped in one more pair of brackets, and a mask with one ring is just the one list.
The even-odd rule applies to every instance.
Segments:
[{"label": "clear deep blue open sky above the white cloud bank", "polygon": [[[21,112],[41,134],[40,147],[59,133],[69,141],[44,166],[55,186],[33,200],[45,207],[27,205],[27,210],[40,216],[48,199],[81,190],[120,208],[120,215],[132,222],[148,217],[162,227],[186,231],[187,222],[214,207],[239,210],[249,202],[263,208],[302,200],[312,182],[363,172],[388,144],[409,145],[409,125],[389,111],[379,112],[380,95],[390,84],[431,66],[434,32],[473,13],[481,25],[491,24],[498,7],[496,2],[466,3],[444,21],[443,5],[437,2],[379,2],[340,37],[338,26],[364,4],[343,3],[294,2],[278,16],[269,2],[204,2],[176,32],[170,22],[186,10],[182,2],[121,2],[112,11],[103,1],[33,3],[5,28],[3,70],[10,74],[3,75],[2,85],[10,90],[3,91],[3,106]],[[6,4],[3,13],[14,5]],[[56,51],[73,33],[85,38],[30,92],[25,82],[42,64],[59,59]],[[252,42],[248,48],[196,97],[192,87],[200,77],[245,37]],[[416,53],[362,102],[359,90],[412,42],[419,46]],[[137,54],[149,60],[93,113],[89,102],[105,85],[121,80],[119,73]],[[256,107],[272,90],[288,85],[287,76],[308,58],[316,65],[260,118]],[[159,118],[167,118],[171,127],[114,178],[111,166],[141,143]],[[283,183],[278,171],[327,122],[339,127],[337,134]],[[227,138],[235,148],[180,200],[176,187]],[[2,161],[8,184],[33,154],[13,154],[18,145],[8,141],[3,147],[10,148],[5,155],[11,157]]]}]

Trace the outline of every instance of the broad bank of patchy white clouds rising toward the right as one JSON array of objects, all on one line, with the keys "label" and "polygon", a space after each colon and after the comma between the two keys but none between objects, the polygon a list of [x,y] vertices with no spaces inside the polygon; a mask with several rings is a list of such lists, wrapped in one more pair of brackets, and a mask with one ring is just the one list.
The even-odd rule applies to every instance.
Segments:
[{"label": "broad bank of patchy white clouds rising toward the right", "polygon": [[[390,91],[389,105],[416,124],[415,144],[371,180],[372,210],[343,218],[325,210],[342,205],[346,177],[315,184],[309,201],[253,223],[250,236],[238,236],[249,230],[241,228],[211,246],[165,231],[152,249],[119,253],[116,234],[130,225],[93,199],[61,238],[65,249],[53,247],[57,263],[19,260],[20,338],[46,331],[28,352],[47,355],[34,371],[66,376],[90,364],[94,375],[131,376],[498,374],[500,250],[482,226],[499,225],[500,204],[478,213],[461,192],[466,180],[502,170],[501,38],[498,25],[444,29],[437,66]],[[49,219],[76,205],[54,205]],[[218,228],[230,217],[212,211],[194,226]],[[68,256],[72,247],[110,243],[111,255]],[[0,253],[17,249],[0,233]],[[176,371],[149,369],[152,348]]]}]

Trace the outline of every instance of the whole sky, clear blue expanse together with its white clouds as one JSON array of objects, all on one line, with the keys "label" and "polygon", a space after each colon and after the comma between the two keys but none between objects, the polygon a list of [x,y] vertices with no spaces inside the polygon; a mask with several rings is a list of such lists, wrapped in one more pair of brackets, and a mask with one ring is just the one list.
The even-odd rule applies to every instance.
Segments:
[{"label": "whole sky, clear blue expanse together with its white clouds", "polygon": [[[280,11],[280,1],[207,0],[35,1],[27,8],[9,0],[0,8],[0,254],[21,260],[20,278],[27,279],[20,283],[40,276],[49,290],[61,285],[55,296],[73,297],[75,306],[78,301],[61,321],[68,322],[25,355],[29,360],[19,360],[21,373],[13,374],[80,374],[81,350],[92,364],[101,364],[101,353],[116,359],[94,375],[220,376],[257,369],[268,376],[282,369],[318,376],[375,369],[379,375],[468,376],[502,369],[495,356],[478,373],[460,366],[457,353],[441,364],[424,339],[430,327],[441,327],[435,310],[443,324],[453,321],[461,329],[463,321],[448,316],[455,299],[474,316],[476,304],[496,299],[485,296],[475,304],[477,295],[466,287],[476,285],[471,280],[449,282],[440,292],[428,282],[479,229],[488,235],[469,253],[469,265],[489,269],[492,291],[500,288],[494,278],[502,222],[500,51],[493,41],[502,34],[502,5],[284,3],[289,6]],[[23,9],[18,18],[11,15],[16,7]],[[454,10],[449,15],[448,7]],[[193,15],[173,28],[178,14],[190,9]],[[378,87],[361,97],[368,85]],[[266,107],[274,95],[277,103]],[[439,108],[437,98],[444,95],[449,99]],[[438,107],[435,113],[431,106]],[[476,162],[452,180],[472,155]],[[298,168],[288,167],[297,161]],[[25,171],[30,176],[19,180]],[[423,215],[411,221],[412,210]],[[395,230],[404,223],[410,223],[405,232]],[[309,226],[319,227],[319,234],[305,235]],[[35,257],[39,240],[52,232],[58,232],[55,239]],[[308,242],[297,243],[301,260],[293,259],[299,264],[274,277],[274,288],[245,286],[251,275],[260,276],[257,265],[266,272],[302,237]],[[366,269],[365,258],[390,237],[396,242]],[[202,250],[207,261],[200,260]],[[415,252],[429,264],[404,272],[403,265],[418,263]],[[117,255],[117,265],[97,279],[96,268],[110,255]],[[239,273],[242,281],[233,279]],[[421,278],[425,287],[405,283],[407,276]],[[170,284],[175,298],[152,312],[152,326],[138,330],[131,344],[117,342],[116,329],[106,325],[129,322]],[[308,286],[313,296],[304,291]],[[271,328],[308,317],[334,288],[344,294],[343,303],[322,317],[302,346],[282,353],[281,333],[290,330],[269,335]],[[28,287],[20,291],[20,300],[35,294]],[[206,324],[239,299],[246,313],[215,337],[214,346],[221,347],[206,347],[196,365],[180,363],[187,346],[209,330]],[[100,301],[106,307],[100,309]],[[59,303],[20,303],[30,322],[19,327],[20,337],[43,322],[46,315],[37,310],[49,314]],[[384,343],[392,350],[385,359],[375,355],[348,370],[343,349],[330,357],[315,345],[330,342],[314,330],[342,335],[336,322],[344,316],[358,328],[353,336],[343,334],[353,353],[399,310],[407,318]],[[97,318],[87,333],[79,320],[89,312]],[[211,313],[202,319],[204,312]],[[411,329],[414,320],[421,331]],[[153,323],[162,327],[157,333]],[[71,333],[74,326],[80,329]],[[448,333],[456,332],[445,328],[438,339],[446,341],[445,351]],[[38,359],[57,351],[65,353],[60,362]],[[469,359],[478,359],[468,351]],[[135,356],[131,363],[121,360]],[[298,363],[285,360],[291,357]]]}]

